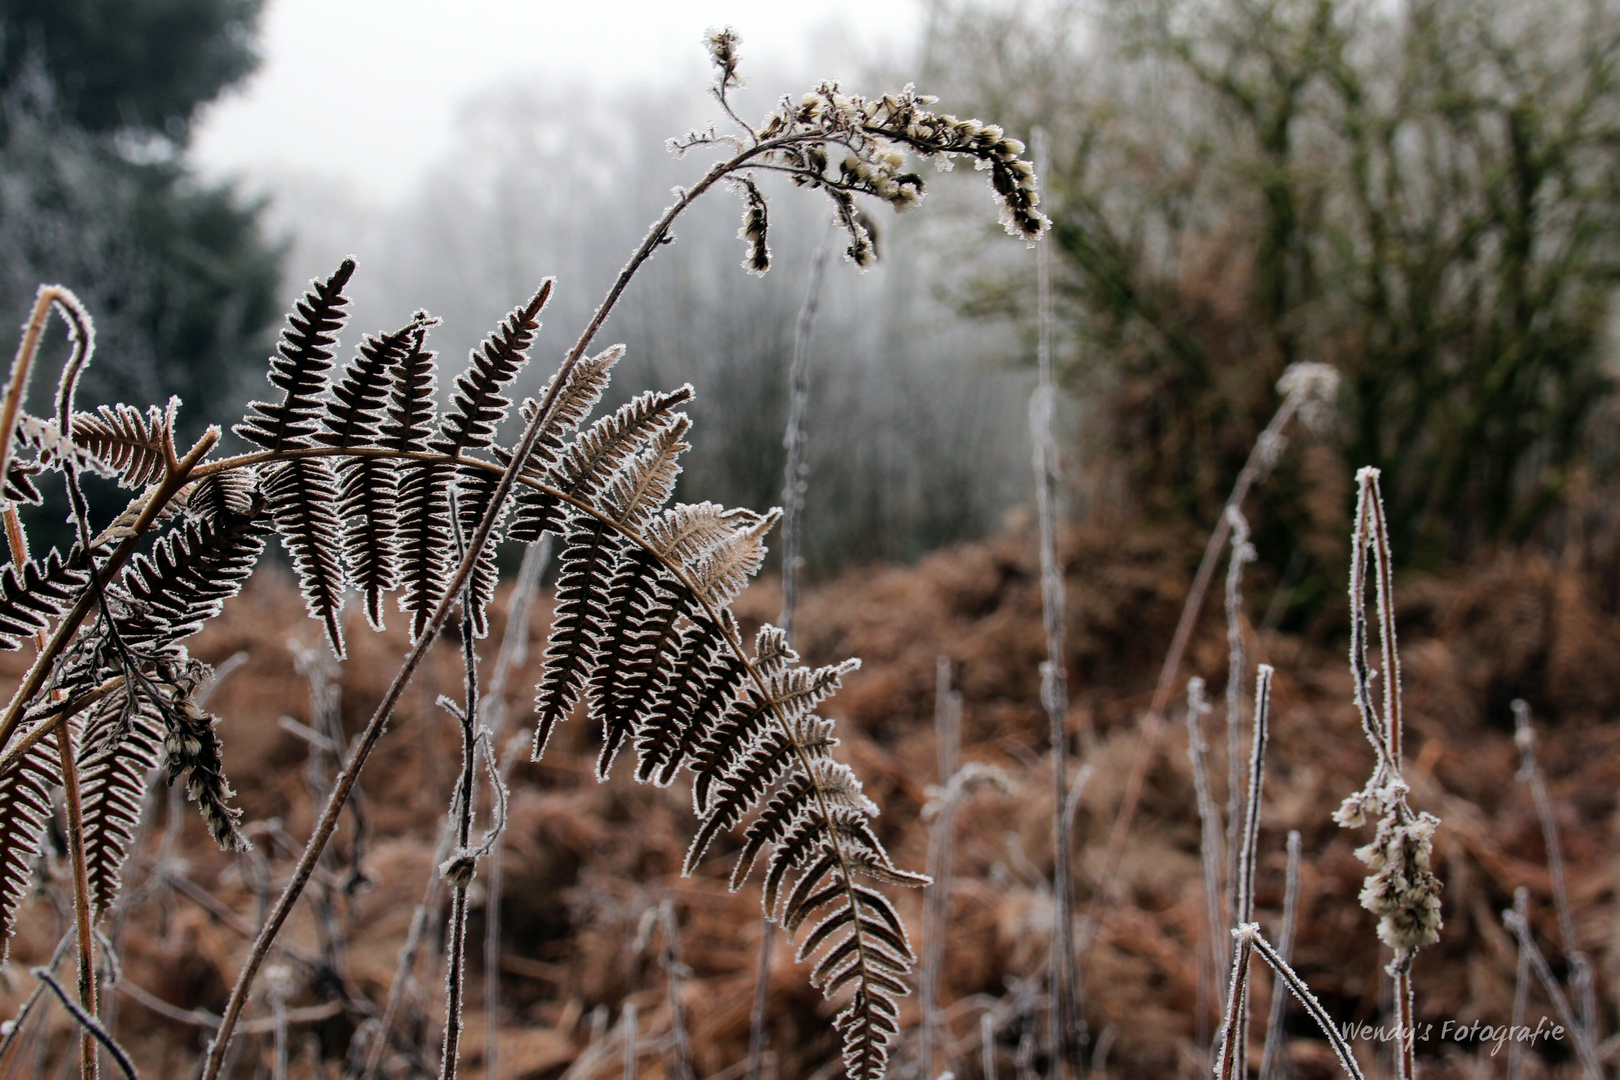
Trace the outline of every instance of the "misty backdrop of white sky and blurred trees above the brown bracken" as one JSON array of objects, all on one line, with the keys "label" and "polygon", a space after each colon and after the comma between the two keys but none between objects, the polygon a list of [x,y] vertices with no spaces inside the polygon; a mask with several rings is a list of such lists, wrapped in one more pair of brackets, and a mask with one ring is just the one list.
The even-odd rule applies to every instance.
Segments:
[{"label": "misty backdrop of white sky and blurred trees above the brown bracken", "polygon": [[[19,317],[37,282],[71,285],[100,330],[84,400],[178,393],[196,431],[261,392],[280,314],[343,256],[345,348],[424,308],[441,389],[556,275],[531,393],[706,167],[664,144],[718,118],[701,34],[731,24],[748,118],[838,78],[1047,128],[1076,520],[1207,529],[1278,376],[1314,359],[1341,376],[1336,418],[1283,455],[1256,523],[1301,602],[1338,594],[1361,465],[1385,470],[1409,565],[1539,544],[1620,602],[1617,8],[0,0],[0,303]],[[1035,259],[983,176],[870,207],[867,274],[821,201],[771,180],[765,279],[740,267],[740,201],[714,193],[599,338],[629,347],[616,400],[697,387],[679,497],[779,502],[794,325],[831,243],[812,570],[1021,520]]]}]

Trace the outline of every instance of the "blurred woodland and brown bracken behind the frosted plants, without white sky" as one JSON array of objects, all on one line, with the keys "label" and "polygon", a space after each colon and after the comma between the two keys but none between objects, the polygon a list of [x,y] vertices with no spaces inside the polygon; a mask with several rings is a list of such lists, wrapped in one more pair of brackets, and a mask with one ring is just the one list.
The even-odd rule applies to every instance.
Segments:
[{"label": "blurred woodland and brown bracken behind the frosted plants, without white sky", "polygon": [[[1291,436],[1249,504],[1259,562],[1246,631],[1252,656],[1280,672],[1262,921],[1280,905],[1281,836],[1301,829],[1301,972],[1336,1017],[1382,1015],[1371,920],[1354,902],[1362,871],[1328,821],[1367,767],[1343,664],[1343,581],[1351,478],[1377,465],[1401,570],[1414,801],[1447,823],[1447,929],[1419,962],[1419,1012],[1505,1022],[1516,960],[1497,913],[1515,887],[1533,891],[1537,925],[1557,941],[1539,826],[1513,782],[1510,701],[1523,698],[1542,727],[1581,946],[1597,959],[1612,1033],[1620,5],[936,0],[922,16],[919,53],[873,65],[870,84],[914,79],[946,110],[1021,138],[1038,121],[1051,142],[1069,722],[1095,767],[1077,818],[1082,908],[1202,538],[1277,408],[1283,368],[1325,361],[1341,374],[1333,423]],[[86,403],[177,393],[183,427],[235,418],[287,303],[348,253],[361,262],[352,325],[379,330],[424,306],[444,319],[452,358],[556,274],[536,351],[559,351],[671,185],[693,172],[663,149],[708,115],[693,87],[514,84],[468,105],[454,155],[392,209],[296,173],[267,199],[214,186],[188,162],[190,125],[253,70],[259,18],[258,0],[0,0],[0,319],[19,322],[39,282],[78,290],[99,330]],[[865,659],[836,708],[904,865],[927,861],[919,811],[936,779],[938,656],[964,693],[964,755],[1014,779],[1014,798],[980,793],[964,811],[943,996],[959,1002],[962,1046],[974,1046],[977,1012],[995,1012],[1013,1070],[1034,1023],[1025,981],[1045,963],[1051,863],[1027,436],[1035,264],[983,225],[980,183],[930,176],[922,210],[876,219],[878,269],[829,267],[812,347],[813,585],[799,635],[812,661]],[[697,387],[687,500],[781,497],[787,363],[825,222],[799,201],[773,209],[766,279],[742,277],[735,207],[714,201],[604,330],[629,345],[616,393]],[[47,505],[34,526],[62,517]],[[773,588],[765,580],[745,597],[753,619],[776,617]],[[536,633],[548,615],[541,602]],[[1189,667],[1218,687],[1213,602],[1205,615]],[[227,761],[248,819],[292,836],[309,821],[309,745],[277,717],[313,722],[287,646],[308,633],[287,581],[267,578],[194,649],[215,662],[246,653],[215,699]],[[399,648],[356,646],[334,672],[347,722],[369,709],[373,672]],[[373,997],[392,975],[450,785],[455,733],[431,701],[434,678],[455,683],[454,653],[437,657],[442,670],[363,784],[373,836],[350,870],[369,887],[339,900],[348,936],[334,963]],[[598,1009],[617,1022],[632,1001],[667,1025],[656,957],[632,947],[643,910],[664,897],[676,897],[692,967],[698,1072],[723,1072],[745,1056],[753,897],[679,879],[682,797],[598,787],[588,735],[575,725],[569,738],[569,753],[518,769],[501,1072],[562,1075]],[[1184,750],[1184,735],[1166,740],[1118,871],[1126,902],[1084,970],[1094,1031],[1113,1031],[1098,1059],[1111,1075],[1191,1075],[1212,1025],[1191,960],[1199,837]],[[180,844],[188,881],[251,910],[246,863],[207,848],[191,824]],[[241,942],[183,889],[156,892],[128,928],[128,978],[177,1009],[217,1010]],[[55,941],[50,905],[36,908],[34,936],[16,946],[29,960]],[[475,938],[486,916],[475,913]],[[1349,960],[1345,939],[1359,942]],[[421,986],[431,997],[434,976]],[[335,999],[298,988],[308,1007]],[[198,1028],[118,1007],[154,1075],[194,1061]],[[818,1009],[782,952],[779,1075],[816,1075],[833,1057],[829,1031],[807,1022]],[[305,1075],[318,1061],[335,1070],[350,1020],[339,1010],[306,1025]],[[1302,1023],[1296,1035],[1296,1074],[1327,1075],[1320,1044]],[[1469,1044],[1422,1054],[1456,1075],[1502,1067]],[[961,1049],[957,1075],[977,1075],[977,1061]],[[1558,1046],[1533,1067],[1571,1069]]]}]

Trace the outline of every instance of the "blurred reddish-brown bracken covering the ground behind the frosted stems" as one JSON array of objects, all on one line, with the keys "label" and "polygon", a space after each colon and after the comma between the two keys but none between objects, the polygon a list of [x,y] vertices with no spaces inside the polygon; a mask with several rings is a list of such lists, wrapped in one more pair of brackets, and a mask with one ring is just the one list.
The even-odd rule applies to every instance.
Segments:
[{"label": "blurred reddish-brown bracken covering the ground behind the frosted stems", "polygon": [[[1187,764],[1184,709],[1171,709],[1149,772],[1140,813],[1113,871],[1108,907],[1097,907],[1106,873],[1108,831],[1140,743],[1158,664],[1191,576],[1184,567],[1196,538],[1076,531],[1066,538],[1069,727],[1076,763],[1090,766],[1076,832],[1077,918],[1090,938],[1082,962],[1084,1007],[1095,1064],[1110,1077],[1207,1075],[1205,1051],[1217,1006],[1200,973],[1209,944],[1202,929],[1199,819]],[[957,816],[941,1002],[949,1038],[938,1067],[980,1075],[980,1014],[996,1025],[1000,1075],[1021,1075],[1035,1043],[1042,1009],[1035,980],[1045,970],[1051,925],[1051,772],[1047,721],[1038,704],[1045,659],[1034,542],[1008,534],[961,546],[909,568],[849,573],[812,588],[800,615],[800,651],[812,662],[860,656],[863,667],[826,712],[839,719],[839,753],[883,808],[878,827],[896,861],[923,870],[930,824],[922,808],[938,784],[935,750],[936,659],[949,657],[964,698],[962,758],[998,766],[1011,795],[975,792]],[[1264,610],[1267,594],[1249,597]],[[774,619],[779,589],[761,581],[739,602],[745,630]],[[355,612],[350,612],[352,615]],[[405,641],[400,620],[373,635],[355,617],[350,657],[337,669],[340,711],[356,732],[392,675]],[[546,596],[533,631],[549,622]],[[1372,751],[1351,703],[1343,630],[1332,615],[1307,635],[1247,628],[1251,661],[1277,667],[1273,721],[1260,827],[1259,921],[1275,939],[1283,897],[1285,836],[1302,837],[1299,973],[1340,1022],[1387,1022],[1388,960],[1374,921],[1358,905],[1366,868],[1354,848],[1371,829],[1346,831],[1330,814],[1358,790]],[[1558,934],[1542,829],[1531,792],[1516,779],[1510,701],[1534,709],[1539,756],[1550,784],[1580,944],[1597,967],[1599,1036],[1615,1028],[1620,905],[1615,897],[1617,792],[1620,792],[1620,620],[1604,614],[1580,575],[1528,555],[1502,555],[1466,573],[1401,580],[1398,588],[1406,756],[1411,801],[1442,819],[1435,873],[1443,882],[1440,944],[1416,965],[1418,1018],[1432,1023],[1418,1052],[1427,1077],[1500,1075],[1507,1051],[1477,1038],[1443,1038],[1445,1022],[1507,1023],[1518,952],[1500,913],[1528,887],[1542,950],[1558,973]],[[492,653],[502,617],[486,644]],[[207,1033],[201,1009],[217,1014],[235,976],[258,910],[279,889],[293,847],[313,819],[308,763],[311,742],[280,717],[311,722],[309,687],[295,670],[288,641],[318,644],[316,625],[285,580],[261,573],[227,604],[225,615],[193,643],[193,653],[222,662],[245,653],[222,680],[211,709],[224,721],[227,772],[256,823],[258,855],[214,848],[196,814],[185,813],[177,844],[165,847],[167,801],[152,798],[141,853],[125,871],[131,902],[115,913],[126,991],[113,997],[117,1031],[143,1075],[190,1075]],[[324,646],[322,646],[324,648]],[[512,725],[528,722],[526,698],[539,670],[539,648],[514,675]],[[10,677],[26,657],[11,657]],[[1226,641],[1217,599],[1207,604],[1183,677],[1209,680],[1217,711],[1205,721],[1215,800],[1225,806],[1221,687]],[[1252,683],[1251,683],[1252,685]],[[454,640],[431,654],[407,691],[361,790],[368,836],[355,844],[352,821],[334,857],[285,936],[251,1004],[249,1038],[240,1040],[235,1075],[277,1075],[275,1007],[288,1015],[287,1077],[339,1075],[339,1062],[364,1012],[381,1010],[400,962],[413,913],[434,863],[436,836],[458,772],[458,732],[434,699],[460,696]],[[672,1075],[669,981],[659,962],[661,934],[646,933],[648,912],[669,899],[679,918],[679,957],[687,972],[680,1004],[698,1078],[739,1077],[748,1049],[748,1017],[761,934],[755,884],[726,887],[729,860],[711,855],[705,870],[680,878],[692,834],[690,795],[682,782],[642,787],[620,766],[598,784],[598,733],[582,717],[564,725],[541,763],[520,755],[512,776],[504,837],[502,944],[499,952],[499,1065],[510,1078],[624,1075],[625,1002],[638,1014],[638,1077]],[[355,857],[358,853],[358,866]],[[470,978],[462,1075],[483,1075],[483,941],[488,892],[481,870],[471,892]],[[32,986],[29,967],[44,962],[68,926],[65,873],[42,868],[0,984],[0,1009],[15,1015]],[[55,900],[52,900],[55,897]],[[896,897],[922,946],[922,892]],[[319,921],[311,912],[326,905]],[[214,910],[209,910],[209,908]],[[436,910],[436,908],[434,908]],[[413,989],[395,1025],[397,1046],[381,1075],[433,1069],[442,1027],[442,942],[429,933],[415,965]],[[71,960],[68,962],[71,963]],[[170,1006],[160,1015],[136,996]],[[272,994],[272,996],[267,996]],[[1270,980],[1254,991],[1256,1051],[1264,1038]],[[272,999],[274,997],[274,999]],[[1380,997],[1385,1007],[1380,1007]],[[361,1001],[363,999],[363,1001]],[[347,1004],[345,1004],[347,1001]],[[369,1004],[366,1004],[369,1002]],[[808,988],[792,947],[778,936],[770,981],[770,1069],[776,1077],[836,1077],[833,1009]],[[1537,988],[1529,1023],[1552,1014]],[[906,1001],[909,1025],[896,1048],[896,1075],[915,1075],[917,997]],[[1557,1020],[1557,1017],[1554,1017]],[[1288,1015],[1293,1075],[1335,1075],[1327,1044],[1299,1009]],[[36,1040],[32,1075],[63,1057],[66,1018],[52,1009]],[[405,1046],[407,1049],[400,1049]],[[408,1051],[408,1048],[418,1048]],[[1369,1075],[1387,1075],[1388,1044],[1356,1044]],[[415,1059],[413,1059],[415,1054]],[[1542,1040],[1529,1074],[1575,1075],[1573,1043]],[[322,1072],[313,1070],[321,1059]],[[53,1065],[52,1065],[53,1067]],[[1042,1069],[1035,1054],[1035,1069]],[[327,1072],[330,1070],[330,1072]],[[570,1072],[572,1070],[572,1072]],[[431,1072],[428,1075],[433,1075]]]}]

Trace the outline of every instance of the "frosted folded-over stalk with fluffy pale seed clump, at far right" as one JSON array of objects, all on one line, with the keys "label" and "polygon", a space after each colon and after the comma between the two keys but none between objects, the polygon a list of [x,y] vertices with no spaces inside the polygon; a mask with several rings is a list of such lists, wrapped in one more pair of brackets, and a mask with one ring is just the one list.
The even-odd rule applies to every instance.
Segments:
[{"label": "frosted folded-over stalk with fluffy pale seed clump, at far right", "polygon": [[[1372,842],[1356,848],[1356,858],[1372,870],[1361,889],[1361,905],[1379,916],[1379,941],[1395,950],[1387,970],[1395,980],[1395,1028],[1401,1033],[1396,1075],[1400,1080],[1411,1080],[1411,965],[1418,949],[1440,939],[1440,879],[1430,868],[1434,831],[1440,819],[1414,811],[1406,801],[1409,789],[1401,777],[1401,665],[1395,646],[1390,538],[1383,521],[1379,470],[1362,468],[1356,473],[1356,526],[1351,534],[1354,551],[1349,563],[1349,667],[1361,729],[1377,758],[1367,785],[1345,800],[1333,821],[1346,829],[1359,827],[1369,819],[1377,821]],[[1372,698],[1377,670],[1369,661],[1369,551],[1379,612],[1379,653],[1385,669],[1382,711]]]}]

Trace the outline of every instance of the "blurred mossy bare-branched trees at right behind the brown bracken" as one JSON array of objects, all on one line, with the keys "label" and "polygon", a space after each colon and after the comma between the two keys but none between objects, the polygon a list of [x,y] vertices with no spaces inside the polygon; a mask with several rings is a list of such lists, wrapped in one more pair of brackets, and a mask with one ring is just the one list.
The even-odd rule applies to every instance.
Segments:
[{"label": "blurred mossy bare-branched trees at right behind the brown bracken", "polygon": [[1531,534],[1610,392],[1617,57],[1614,0],[940,0],[930,34],[949,104],[1051,131],[1071,377],[1137,491],[1209,520],[1324,359],[1406,565]]}]

